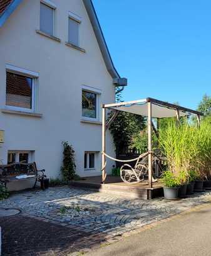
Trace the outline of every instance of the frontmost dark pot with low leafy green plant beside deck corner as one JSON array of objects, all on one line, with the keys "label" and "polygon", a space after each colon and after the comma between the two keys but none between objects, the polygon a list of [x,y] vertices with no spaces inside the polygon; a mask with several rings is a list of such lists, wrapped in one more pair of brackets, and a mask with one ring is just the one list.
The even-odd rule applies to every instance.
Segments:
[{"label": "frontmost dark pot with low leafy green plant beside deck corner", "polygon": [[165,199],[177,199],[178,190],[180,189],[178,177],[176,177],[170,170],[163,173],[162,179],[163,191]]}]

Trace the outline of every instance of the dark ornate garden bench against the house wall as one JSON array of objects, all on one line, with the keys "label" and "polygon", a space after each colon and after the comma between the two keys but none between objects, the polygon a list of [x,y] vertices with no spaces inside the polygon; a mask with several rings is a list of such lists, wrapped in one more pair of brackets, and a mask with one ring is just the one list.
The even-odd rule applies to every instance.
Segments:
[{"label": "dark ornate garden bench against the house wall", "polygon": [[46,177],[44,172],[44,169],[37,169],[36,162],[18,162],[13,164],[0,165],[0,183],[4,184],[6,187],[8,182],[11,181],[26,181],[35,178],[33,187],[36,187],[36,183],[38,181],[40,182],[42,179],[44,179],[44,177]]}]

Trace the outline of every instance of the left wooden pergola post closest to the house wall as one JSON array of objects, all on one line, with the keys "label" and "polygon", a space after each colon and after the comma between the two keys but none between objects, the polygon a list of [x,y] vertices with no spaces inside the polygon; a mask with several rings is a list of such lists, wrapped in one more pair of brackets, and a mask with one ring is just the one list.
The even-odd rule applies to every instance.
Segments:
[{"label": "left wooden pergola post closest to the house wall", "polygon": [[102,105],[102,177],[101,177],[101,183],[105,182],[106,179],[106,157],[105,157],[105,148],[106,148],[106,108],[104,104]]}]

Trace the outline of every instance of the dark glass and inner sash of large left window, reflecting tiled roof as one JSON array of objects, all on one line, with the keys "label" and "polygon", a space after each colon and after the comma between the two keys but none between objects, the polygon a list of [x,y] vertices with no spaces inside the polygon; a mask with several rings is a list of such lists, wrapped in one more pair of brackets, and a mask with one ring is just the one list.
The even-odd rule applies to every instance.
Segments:
[{"label": "dark glass and inner sash of large left window, reflecting tiled roof", "polygon": [[6,106],[33,109],[34,79],[6,72]]}]

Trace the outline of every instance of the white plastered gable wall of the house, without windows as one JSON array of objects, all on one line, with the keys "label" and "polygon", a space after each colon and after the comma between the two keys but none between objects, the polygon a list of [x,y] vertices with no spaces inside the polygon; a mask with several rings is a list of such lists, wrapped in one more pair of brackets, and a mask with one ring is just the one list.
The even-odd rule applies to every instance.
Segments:
[{"label": "white plastered gable wall of the house, without windows", "polygon": [[[49,177],[59,175],[61,141],[76,151],[77,173],[101,174],[100,157],[96,172],[85,172],[84,152],[101,151],[101,125],[81,123],[81,86],[101,89],[101,103],[115,101],[115,87],[105,67],[93,28],[81,0],[53,0],[57,6],[55,36],[61,43],[36,33],[39,29],[39,0],[24,0],[0,28],[0,108],[5,106],[6,64],[39,72],[38,106],[42,118],[5,114],[0,111],[0,130],[5,143],[0,159],[7,162],[8,150],[34,150],[38,168]],[[80,47],[86,53],[65,45],[68,40],[68,11],[82,17]],[[107,152],[114,155],[112,138],[107,136]],[[99,154],[100,156],[100,154]],[[113,162],[108,161],[108,170]]]}]

